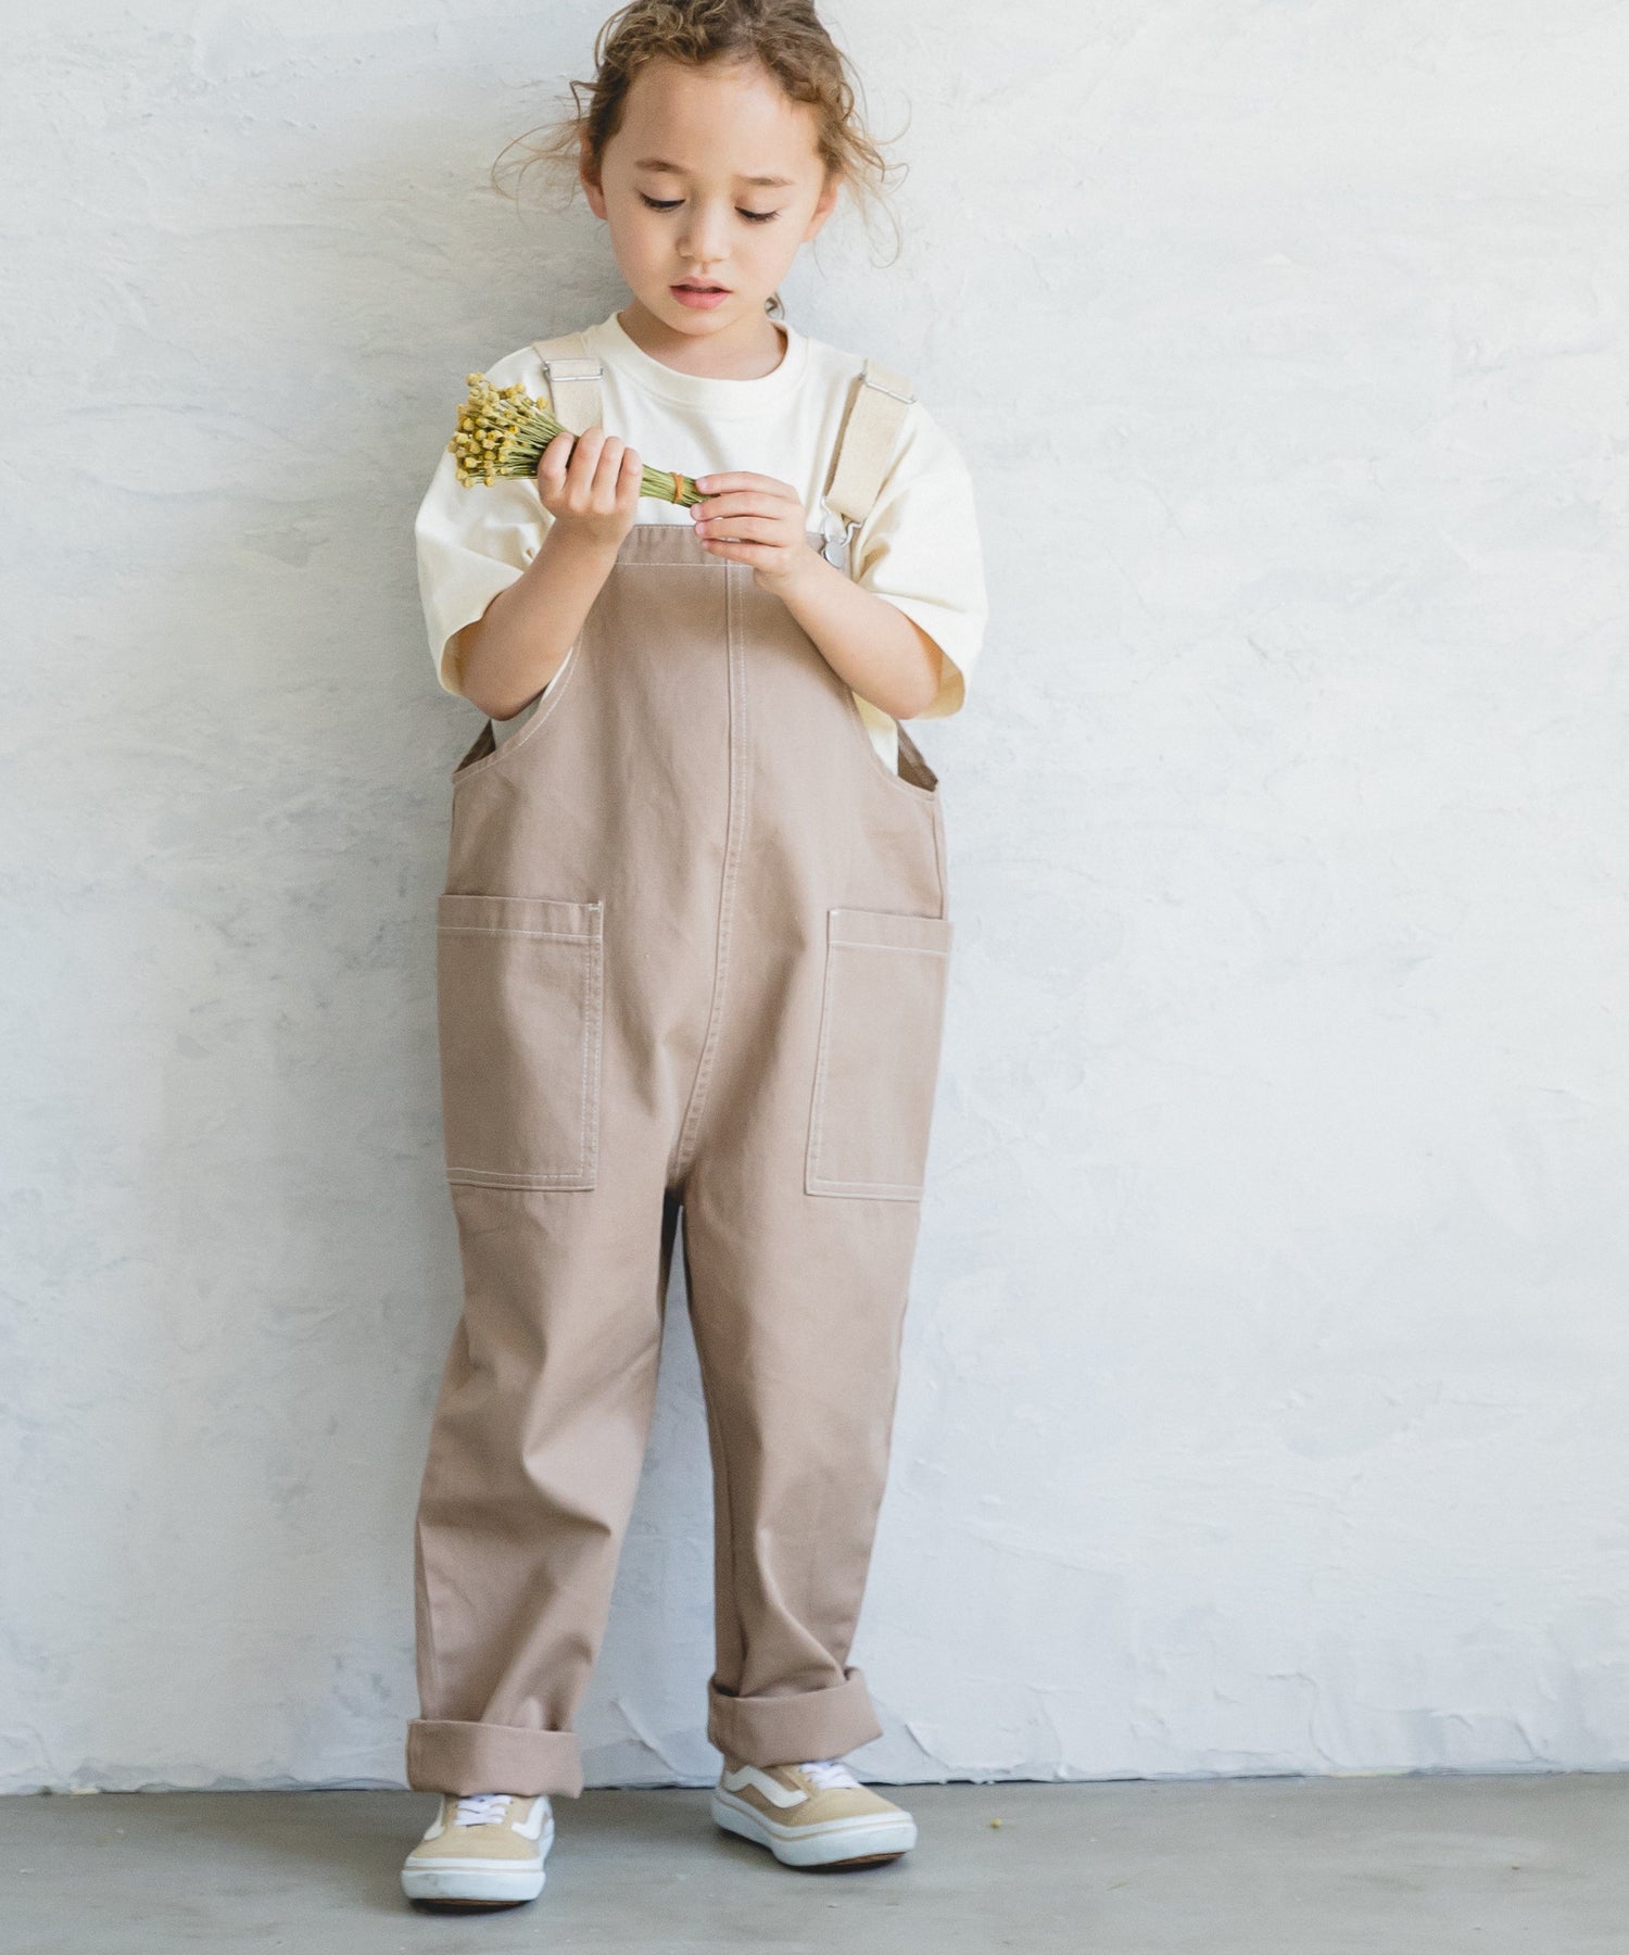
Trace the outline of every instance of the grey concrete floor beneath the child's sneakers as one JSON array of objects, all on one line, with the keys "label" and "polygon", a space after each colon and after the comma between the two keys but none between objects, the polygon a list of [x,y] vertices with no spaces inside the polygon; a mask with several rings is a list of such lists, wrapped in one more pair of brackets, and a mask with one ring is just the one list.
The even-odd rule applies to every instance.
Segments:
[{"label": "grey concrete floor beneath the child's sneakers", "polygon": [[[426,1793],[0,1799],[4,1955],[1629,1949],[1629,1773],[911,1785],[913,1853],[794,1873],[704,1791],[555,1801],[520,1908],[409,1902]],[[999,1826],[993,1822],[1001,1820]]]}]

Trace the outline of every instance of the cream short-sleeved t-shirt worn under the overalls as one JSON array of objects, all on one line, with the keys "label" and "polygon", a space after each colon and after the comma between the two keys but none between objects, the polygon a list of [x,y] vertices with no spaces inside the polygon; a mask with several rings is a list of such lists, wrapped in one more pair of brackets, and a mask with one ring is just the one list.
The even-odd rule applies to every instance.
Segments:
[{"label": "cream short-sleeved t-shirt worn under the overalls", "polygon": [[[628,338],[612,311],[583,332],[589,356],[602,366],[600,420],[647,467],[684,475],[751,469],[790,483],[804,499],[808,528],[819,530],[827,555],[843,563],[843,520],[825,506],[823,493],[837,430],[864,360],[810,338],[790,321],[778,325],[786,350],[774,371],[757,379],[714,379],[653,360]],[[534,399],[548,399],[534,346],[505,354],[485,373],[495,387],[520,381]],[[639,497],[636,520],[690,524],[692,516],[677,502]],[[413,534],[430,657],[444,690],[458,692],[444,663],[448,639],[522,575],[551,522],[536,477],[501,477],[465,489],[454,456],[442,452]],[[972,475],[921,401],[905,409],[894,459],[870,514],[855,532],[847,567],[859,585],[915,620],[945,655],[939,696],[921,717],[943,719],[958,712],[988,622],[984,559]],[[505,739],[524,725],[544,692],[512,719],[495,719],[495,737]],[[855,704],[878,755],[898,770],[898,723],[859,692]]]}]

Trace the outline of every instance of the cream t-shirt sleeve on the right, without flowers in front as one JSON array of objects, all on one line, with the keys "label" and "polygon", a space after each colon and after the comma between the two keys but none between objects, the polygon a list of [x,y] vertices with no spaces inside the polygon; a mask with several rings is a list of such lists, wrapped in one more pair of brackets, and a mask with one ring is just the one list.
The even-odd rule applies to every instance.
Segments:
[{"label": "cream t-shirt sleeve on the right, without flowers in front", "polygon": [[945,655],[939,696],[921,717],[958,712],[990,618],[984,549],[972,473],[921,401],[855,532],[853,567],[855,583],[898,604]]}]

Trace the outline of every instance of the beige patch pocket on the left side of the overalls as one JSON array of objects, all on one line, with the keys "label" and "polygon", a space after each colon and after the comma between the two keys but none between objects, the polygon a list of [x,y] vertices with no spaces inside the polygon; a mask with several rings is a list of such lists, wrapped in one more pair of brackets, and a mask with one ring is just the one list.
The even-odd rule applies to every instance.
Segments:
[{"label": "beige patch pocket on the left side of the overalls", "polygon": [[438,897],[448,1181],[481,1189],[594,1185],[602,1017],[602,903]]}]

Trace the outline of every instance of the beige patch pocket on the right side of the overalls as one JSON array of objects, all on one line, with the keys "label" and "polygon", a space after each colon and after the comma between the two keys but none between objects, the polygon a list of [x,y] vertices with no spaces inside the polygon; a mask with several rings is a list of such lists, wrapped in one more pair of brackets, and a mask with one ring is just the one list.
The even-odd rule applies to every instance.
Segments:
[{"label": "beige patch pocket on the right side of the overalls", "polygon": [[806,1193],[921,1198],[950,934],[948,917],[827,911]]}]

